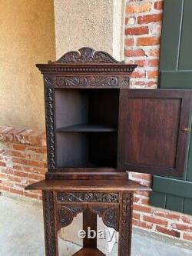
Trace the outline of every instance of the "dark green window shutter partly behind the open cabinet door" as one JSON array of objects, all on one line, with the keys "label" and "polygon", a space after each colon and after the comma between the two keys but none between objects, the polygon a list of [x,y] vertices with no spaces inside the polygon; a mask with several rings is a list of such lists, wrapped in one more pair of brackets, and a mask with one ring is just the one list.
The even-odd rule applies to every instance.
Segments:
[{"label": "dark green window shutter partly behind the open cabinet door", "polygon": [[[164,0],[160,88],[192,88],[192,1]],[[154,176],[151,205],[192,214],[192,136],[184,177]]]}]

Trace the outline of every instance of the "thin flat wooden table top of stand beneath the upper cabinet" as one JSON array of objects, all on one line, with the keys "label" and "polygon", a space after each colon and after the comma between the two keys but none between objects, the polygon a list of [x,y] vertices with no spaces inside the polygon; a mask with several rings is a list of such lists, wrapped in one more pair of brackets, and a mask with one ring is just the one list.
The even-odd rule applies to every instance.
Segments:
[{"label": "thin flat wooden table top of stand beneath the upper cabinet", "polygon": [[42,180],[28,185],[28,190],[71,190],[71,191],[151,191],[131,180]]}]

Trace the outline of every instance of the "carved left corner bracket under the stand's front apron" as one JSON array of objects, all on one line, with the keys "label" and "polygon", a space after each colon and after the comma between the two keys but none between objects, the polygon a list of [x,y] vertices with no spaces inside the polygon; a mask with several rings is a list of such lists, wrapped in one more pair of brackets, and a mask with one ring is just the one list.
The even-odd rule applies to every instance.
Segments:
[{"label": "carved left corner bracket under the stand's front apron", "polygon": [[73,221],[78,213],[84,211],[87,205],[67,205],[58,209],[58,228],[65,228]]}]

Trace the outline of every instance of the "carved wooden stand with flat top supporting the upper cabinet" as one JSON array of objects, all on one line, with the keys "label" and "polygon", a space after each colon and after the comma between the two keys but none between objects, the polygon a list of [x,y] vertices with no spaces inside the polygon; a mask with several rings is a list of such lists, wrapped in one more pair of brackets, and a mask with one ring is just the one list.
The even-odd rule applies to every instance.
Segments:
[{"label": "carved wooden stand with flat top supporting the upper cabinet", "polygon": [[[111,183],[111,184],[110,184]],[[83,229],[97,231],[97,214],[104,224],[119,232],[118,255],[131,255],[132,205],[134,191],[151,191],[134,181],[40,181],[27,189],[43,194],[46,256],[58,256],[58,230],[67,227],[83,212]],[[77,234],[78,235],[78,234]],[[75,256],[104,255],[97,239],[84,238]]]}]

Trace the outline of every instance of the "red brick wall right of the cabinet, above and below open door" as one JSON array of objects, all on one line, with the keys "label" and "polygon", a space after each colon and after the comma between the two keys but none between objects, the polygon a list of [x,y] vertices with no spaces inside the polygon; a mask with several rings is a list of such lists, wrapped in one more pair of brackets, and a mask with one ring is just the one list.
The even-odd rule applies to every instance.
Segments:
[{"label": "red brick wall right of the cabinet, above and below open door", "polygon": [[[138,67],[131,88],[157,88],[163,1],[127,0],[124,58]],[[151,185],[151,176],[131,173],[131,179]],[[152,208],[148,193],[134,195],[134,226],[181,240],[192,241],[192,216]]]}]

